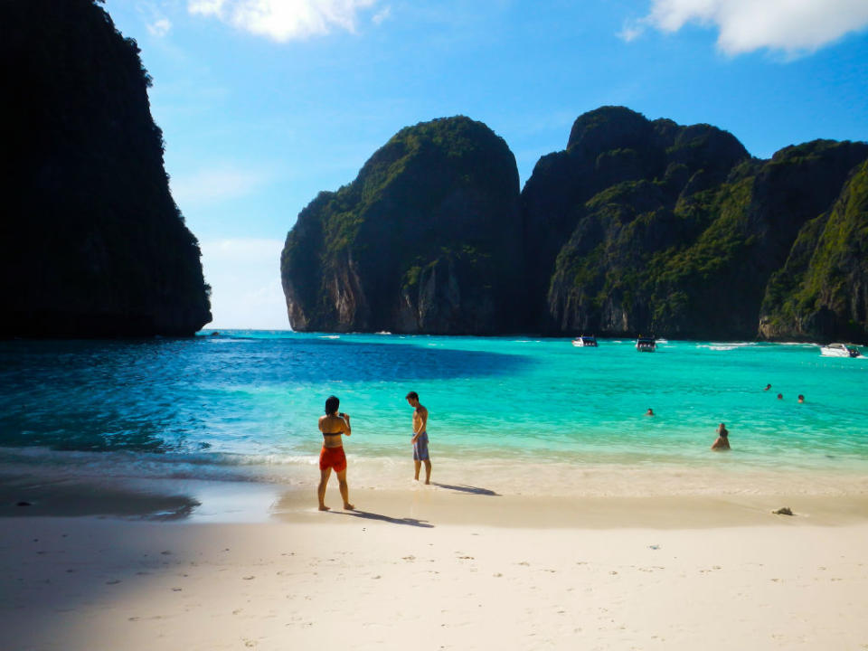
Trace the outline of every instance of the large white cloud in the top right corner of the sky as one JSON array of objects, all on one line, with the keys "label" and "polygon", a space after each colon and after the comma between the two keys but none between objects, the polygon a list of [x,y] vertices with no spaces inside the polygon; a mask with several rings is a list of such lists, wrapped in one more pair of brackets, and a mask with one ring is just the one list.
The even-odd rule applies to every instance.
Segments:
[{"label": "large white cloud in the top right corner of the sky", "polygon": [[796,56],[815,52],[868,25],[865,0],[652,0],[645,18],[626,24],[619,36],[635,39],[650,25],[677,32],[685,24],[714,26],[726,54],[762,48]]}]

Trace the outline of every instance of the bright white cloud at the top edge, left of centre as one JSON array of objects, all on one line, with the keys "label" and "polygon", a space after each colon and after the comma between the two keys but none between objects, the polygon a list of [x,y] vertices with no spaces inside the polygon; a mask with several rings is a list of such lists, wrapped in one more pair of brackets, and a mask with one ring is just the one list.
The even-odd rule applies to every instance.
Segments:
[{"label": "bright white cloud at the top edge, left of centre", "polygon": [[[378,0],[188,0],[190,14],[214,16],[233,27],[287,42],[355,32],[357,14]],[[378,14],[379,15],[379,14]]]}]

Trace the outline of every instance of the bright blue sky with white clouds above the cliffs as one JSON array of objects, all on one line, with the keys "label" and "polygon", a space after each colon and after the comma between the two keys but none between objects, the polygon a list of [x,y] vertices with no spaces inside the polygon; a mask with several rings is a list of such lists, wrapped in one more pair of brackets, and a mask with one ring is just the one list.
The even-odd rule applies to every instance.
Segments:
[{"label": "bright blue sky with white clouds above the cliffs", "polygon": [[288,328],[287,231],[401,127],[485,122],[521,182],[607,104],[751,154],[868,139],[868,0],[107,0],[154,78],[210,327]]}]

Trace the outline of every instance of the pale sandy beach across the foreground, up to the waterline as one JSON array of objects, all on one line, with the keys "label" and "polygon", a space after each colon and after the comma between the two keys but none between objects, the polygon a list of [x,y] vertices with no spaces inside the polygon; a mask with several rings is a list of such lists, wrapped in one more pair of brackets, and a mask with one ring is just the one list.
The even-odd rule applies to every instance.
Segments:
[{"label": "pale sandy beach across the foreground, up to the waterline", "polygon": [[868,648],[864,496],[260,493],[248,523],[5,508],[0,649]]}]

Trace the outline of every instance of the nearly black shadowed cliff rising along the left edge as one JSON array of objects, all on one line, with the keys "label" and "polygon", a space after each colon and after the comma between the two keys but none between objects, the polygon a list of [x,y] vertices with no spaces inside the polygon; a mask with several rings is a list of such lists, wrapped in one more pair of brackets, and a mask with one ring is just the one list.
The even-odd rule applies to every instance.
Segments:
[{"label": "nearly black shadowed cliff rising along the left edge", "polygon": [[0,335],[192,335],[211,320],[138,52],[91,0],[0,2]]}]

